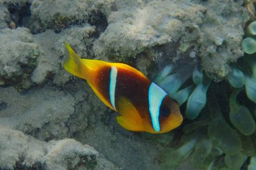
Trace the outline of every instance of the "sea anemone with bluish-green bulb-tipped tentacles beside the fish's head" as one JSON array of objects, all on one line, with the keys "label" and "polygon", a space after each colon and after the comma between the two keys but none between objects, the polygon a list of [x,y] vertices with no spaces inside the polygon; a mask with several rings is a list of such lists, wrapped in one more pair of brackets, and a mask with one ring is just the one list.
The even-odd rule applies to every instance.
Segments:
[{"label": "sea anemone with bluish-green bulb-tipped tentacles beside the fish's head", "polygon": [[195,169],[256,169],[256,22],[248,30],[251,40],[242,45],[247,54],[232,63],[227,81],[211,81],[195,62],[168,65],[156,78],[185,113],[179,141],[159,155],[162,169],[186,160]]}]

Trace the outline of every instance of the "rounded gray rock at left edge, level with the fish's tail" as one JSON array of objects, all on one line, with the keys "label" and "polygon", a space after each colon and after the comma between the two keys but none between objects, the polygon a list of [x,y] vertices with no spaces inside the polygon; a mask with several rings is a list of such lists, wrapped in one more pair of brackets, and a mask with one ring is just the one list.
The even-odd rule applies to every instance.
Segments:
[{"label": "rounded gray rock at left edge, level with the fish's tail", "polygon": [[18,89],[31,86],[30,75],[40,56],[38,44],[32,40],[27,28],[0,30],[0,84],[14,85]]}]

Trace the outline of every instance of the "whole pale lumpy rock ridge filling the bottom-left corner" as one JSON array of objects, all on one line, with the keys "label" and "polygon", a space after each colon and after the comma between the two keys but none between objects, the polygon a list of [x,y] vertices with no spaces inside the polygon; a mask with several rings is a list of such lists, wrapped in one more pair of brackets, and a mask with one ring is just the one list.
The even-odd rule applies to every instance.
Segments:
[{"label": "whole pale lumpy rock ridge filling the bottom-left corner", "polygon": [[0,127],[1,169],[117,169],[87,144],[74,139],[43,142]]}]

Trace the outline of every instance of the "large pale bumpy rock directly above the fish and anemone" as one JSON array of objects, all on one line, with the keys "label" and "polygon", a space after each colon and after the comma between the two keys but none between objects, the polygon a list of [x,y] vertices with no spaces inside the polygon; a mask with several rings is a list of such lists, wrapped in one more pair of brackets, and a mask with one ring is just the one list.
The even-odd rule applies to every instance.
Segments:
[{"label": "large pale bumpy rock directly above the fish and anemone", "polygon": [[149,49],[166,46],[172,48],[170,54],[166,52],[172,60],[187,58],[190,52],[199,55],[202,69],[216,80],[230,73],[229,62],[243,56],[240,43],[249,15],[242,1],[116,4],[117,11],[107,17],[106,30],[94,42],[97,56],[123,61],[147,55],[145,52],[151,55]]}]

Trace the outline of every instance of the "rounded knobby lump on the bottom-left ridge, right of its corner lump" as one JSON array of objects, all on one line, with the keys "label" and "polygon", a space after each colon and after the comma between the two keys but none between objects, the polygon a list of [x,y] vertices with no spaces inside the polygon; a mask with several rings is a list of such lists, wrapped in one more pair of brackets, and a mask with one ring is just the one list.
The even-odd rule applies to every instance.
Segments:
[{"label": "rounded knobby lump on the bottom-left ridge, right of its corner lump", "polygon": [[46,147],[45,164],[48,169],[95,169],[98,152],[74,139],[53,140]]}]

